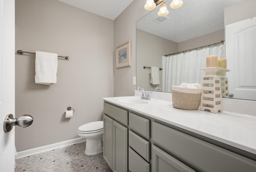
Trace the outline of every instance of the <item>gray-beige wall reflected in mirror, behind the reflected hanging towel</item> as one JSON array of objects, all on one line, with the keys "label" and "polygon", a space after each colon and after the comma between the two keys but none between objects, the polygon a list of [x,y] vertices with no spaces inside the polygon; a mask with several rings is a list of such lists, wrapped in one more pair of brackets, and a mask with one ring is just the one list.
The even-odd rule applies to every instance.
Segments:
[{"label": "gray-beige wall reflected in mirror, behind the reflected hanging towel", "polygon": [[162,88],[162,71],[159,71],[160,84],[152,85],[150,84],[148,69],[143,69],[143,66],[157,66],[162,68],[162,56],[177,52],[178,43],[137,29],[136,51],[137,86],[142,86],[146,90],[154,90],[158,86]]}]

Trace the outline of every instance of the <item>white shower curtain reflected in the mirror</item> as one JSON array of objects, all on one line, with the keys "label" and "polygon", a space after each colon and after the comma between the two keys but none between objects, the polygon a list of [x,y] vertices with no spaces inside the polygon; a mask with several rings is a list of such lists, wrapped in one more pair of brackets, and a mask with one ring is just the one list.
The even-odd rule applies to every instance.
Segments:
[{"label": "white shower curtain reflected in the mirror", "polygon": [[200,68],[206,68],[206,56],[218,55],[224,58],[224,44],[200,48],[172,56],[162,56],[162,90],[171,92],[172,85],[181,83],[199,83],[205,72]]}]

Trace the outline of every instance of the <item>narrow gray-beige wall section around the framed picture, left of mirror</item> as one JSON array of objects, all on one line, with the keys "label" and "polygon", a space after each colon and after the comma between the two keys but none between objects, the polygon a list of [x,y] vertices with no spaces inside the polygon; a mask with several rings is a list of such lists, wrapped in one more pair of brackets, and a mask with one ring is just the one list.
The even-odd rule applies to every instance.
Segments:
[{"label": "narrow gray-beige wall section around the framed picture, left of mirror", "polygon": [[136,76],[136,22],[148,14],[144,9],[144,0],[134,0],[114,20],[114,48],[131,40],[132,66],[116,68],[116,52],[114,52],[114,96],[132,96],[136,85],[132,84],[132,77]]}]

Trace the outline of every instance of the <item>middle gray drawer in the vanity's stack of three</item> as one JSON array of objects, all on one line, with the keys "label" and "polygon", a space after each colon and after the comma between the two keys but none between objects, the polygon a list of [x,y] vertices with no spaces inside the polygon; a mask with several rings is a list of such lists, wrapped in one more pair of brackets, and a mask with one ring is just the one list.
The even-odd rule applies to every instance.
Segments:
[{"label": "middle gray drawer in the vanity's stack of three", "polygon": [[133,148],[140,156],[149,161],[150,143],[129,130],[129,146]]}]

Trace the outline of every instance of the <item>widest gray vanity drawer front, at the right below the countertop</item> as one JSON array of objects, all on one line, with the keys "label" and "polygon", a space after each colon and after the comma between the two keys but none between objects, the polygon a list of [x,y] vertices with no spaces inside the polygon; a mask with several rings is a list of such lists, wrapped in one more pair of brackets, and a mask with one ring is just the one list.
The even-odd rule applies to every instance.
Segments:
[{"label": "widest gray vanity drawer front, at the right below the countertop", "polygon": [[201,171],[256,171],[253,160],[156,122],[152,122],[152,140]]}]

